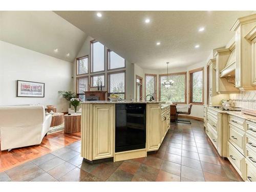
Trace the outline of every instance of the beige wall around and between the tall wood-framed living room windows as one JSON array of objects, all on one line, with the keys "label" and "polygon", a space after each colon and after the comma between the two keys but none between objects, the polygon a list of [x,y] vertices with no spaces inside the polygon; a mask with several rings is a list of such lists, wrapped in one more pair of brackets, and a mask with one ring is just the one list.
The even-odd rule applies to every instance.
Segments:
[{"label": "beige wall around and between the tall wood-framed living room windows", "polygon": [[[94,40],[94,38],[88,36],[86,38],[86,40],[84,41],[79,53],[77,54],[76,57],[81,57],[81,56],[85,56],[88,55],[89,56],[89,72],[90,72],[90,41]],[[108,62],[107,62],[107,50],[108,48],[105,47],[105,55],[104,55],[104,60],[105,60],[105,69],[108,69]],[[74,60],[73,63],[73,87],[74,87],[74,92],[76,92],[76,59]],[[125,70],[125,87],[126,87],[126,99],[133,99],[134,98],[134,65],[125,60],[125,69],[117,69],[117,70],[111,70],[111,72],[115,72],[115,71],[122,71]],[[97,75],[97,74],[105,74],[105,87],[102,88],[103,91],[107,91],[107,86],[106,86],[106,82],[107,82],[107,75],[108,75],[108,71],[105,70],[105,72],[96,72],[93,73],[93,75]],[[87,75],[89,76],[89,84],[90,84],[90,73]],[[97,88],[91,88],[91,91],[96,91]]]}]

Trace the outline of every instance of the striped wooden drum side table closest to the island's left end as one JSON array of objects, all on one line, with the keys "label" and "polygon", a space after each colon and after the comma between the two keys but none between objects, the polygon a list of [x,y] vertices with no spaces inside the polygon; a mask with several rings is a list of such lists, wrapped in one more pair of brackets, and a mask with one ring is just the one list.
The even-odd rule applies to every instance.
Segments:
[{"label": "striped wooden drum side table closest to the island's left end", "polygon": [[81,131],[81,114],[64,115],[65,133],[76,133]]}]

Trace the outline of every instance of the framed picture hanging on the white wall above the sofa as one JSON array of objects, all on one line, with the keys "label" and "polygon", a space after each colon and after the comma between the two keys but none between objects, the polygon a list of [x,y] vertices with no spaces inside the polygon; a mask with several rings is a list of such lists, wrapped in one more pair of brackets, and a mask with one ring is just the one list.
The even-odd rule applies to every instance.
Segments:
[{"label": "framed picture hanging on the white wall above the sofa", "polygon": [[45,97],[45,83],[17,80],[17,97]]}]

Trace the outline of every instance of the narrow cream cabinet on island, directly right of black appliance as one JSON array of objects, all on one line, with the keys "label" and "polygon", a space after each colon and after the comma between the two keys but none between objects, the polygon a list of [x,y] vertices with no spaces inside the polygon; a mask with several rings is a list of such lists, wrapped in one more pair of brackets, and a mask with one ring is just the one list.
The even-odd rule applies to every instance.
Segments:
[{"label": "narrow cream cabinet on island, directly right of black appliance", "polygon": [[161,104],[148,103],[146,106],[146,148],[157,151],[161,145]]}]

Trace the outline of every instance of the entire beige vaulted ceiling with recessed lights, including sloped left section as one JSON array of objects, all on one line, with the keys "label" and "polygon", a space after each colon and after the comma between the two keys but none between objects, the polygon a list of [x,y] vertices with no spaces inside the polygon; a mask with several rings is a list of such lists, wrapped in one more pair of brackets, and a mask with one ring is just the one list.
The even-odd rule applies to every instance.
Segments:
[{"label": "entire beige vaulted ceiling with recessed lights, including sloped left section", "polygon": [[[234,21],[252,11],[96,13],[0,11],[0,40],[73,62],[89,35],[142,68],[164,69],[166,61],[177,68],[204,61],[212,49],[225,46],[234,35],[229,31]],[[200,27],[205,30],[199,32]]]}]

